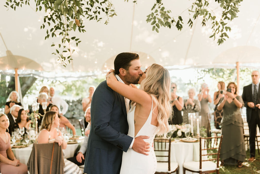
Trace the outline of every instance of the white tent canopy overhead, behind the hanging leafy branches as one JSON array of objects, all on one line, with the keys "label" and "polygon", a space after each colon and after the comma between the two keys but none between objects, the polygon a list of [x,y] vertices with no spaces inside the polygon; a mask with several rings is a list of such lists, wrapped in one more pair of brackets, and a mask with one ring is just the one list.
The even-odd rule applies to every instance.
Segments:
[{"label": "white tent canopy overhead, behind the hanging leafy branches", "polygon": [[[121,52],[138,52],[143,67],[152,63],[161,64],[169,69],[188,67],[223,67],[258,66],[260,62],[260,6],[259,0],[243,1],[239,8],[238,18],[235,18],[227,26],[231,27],[231,33],[227,32],[229,39],[218,46],[216,40],[209,38],[211,35],[211,23],[202,27],[200,21],[193,21],[193,28],[186,25],[189,20],[188,11],[191,1],[164,1],[167,9],[172,11],[172,16],[181,14],[184,19],[182,31],[176,28],[161,27],[160,32],[152,31],[152,26],[146,23],[146,16],[151,13],[155,1],[139,0],[137,4],[132,2],[112,1],[117,16],[110,19],[108,25],[94,20],[84,21],[86,33],[76,32],[75,36],[82,41],[72,58],[73,64],[63,68],[59,65],[57,57],[52,52],[55,47],[51,43],[59,42],[60,38],[44,40],[46,30],[41,30],[44,10],[35,12],[35,4],[31,1],[31,7],[24,5],[16,8],[16,11],[3,6],[0,3],[0,32],[7,48],[14,54],[27,57],[36,61],[43,70],[50,73],[37,72],[42,77],[64,76],[64,72],[74,72],[75,76],[81,76],[78,72],[84,72],[83,76],[99,74],[102,70],[113,67],[113,58]],[[218,6],[211,1],[211,9]],[[217,16],[221,16],[218,9],[214,10]],[[175,17],[177,18],[177,17]],[[40,22],[39,22],[40,21]],[[74,35],[74,33],[71,33]],[[0,41],[0,57],[6,56],[6,48]],[[149,59],[148,59],[149,58]],[[254,64],[248,64],[254,63]],[[1,69],[5,72],[5,69]],[[19,74],[28,71],[18,72]],[[35,72],[34,72],[35,73]]]}]

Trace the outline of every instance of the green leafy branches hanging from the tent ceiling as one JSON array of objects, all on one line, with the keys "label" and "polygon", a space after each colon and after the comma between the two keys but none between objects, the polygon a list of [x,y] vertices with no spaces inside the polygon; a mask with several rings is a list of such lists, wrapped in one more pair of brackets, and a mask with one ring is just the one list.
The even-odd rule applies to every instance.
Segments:
[{"label": "green leafy branches hanging from the tent ceiling", "polygon": [[[30,0],[6,0],[6,8],[16,10],[16,7],[30,5]],[[44,10],[48,15],[44,16],[44,23],[41,29],[46,29],[45,39],[61,35],[61,42],[57,45],[54,53],[58,57],[58,61],[66,67],[66,62],[70,63],[73,59],[71,54],[75,51],[70,48],[69,43],[74,40],[76,46],[81,42],[80,38],[73,36],[73,32],[86,32],[84,30],[83,18],[88,20],[105,21],[109,23],[109,18],[116,15],[112,0],[34,0],[36,3],[36,11]],[[128,2],[128,0],[125,0]],[[151,9],[151,13],[147,16],[147,23],[151,23],[152,30],[159,33],[160,27],[176,27],[178,30],[183,28],[184,22],[187,22],[190,28],[193,26],[194,20],[201,21],[202,26],[206,26],[206,22],[210,21],[212,26],[212,35],[209,36],[214,40],[217,38],[218,45],[222,44],[226,38],[229,38],[226,32],[230,32],[231,28],[227,26],[228,21],[237,17],[239,5],[243,0],[193,0],[191,6],[186,9],[190,18],[189,21],[183,21],[181,14],[177,17],[171,17],[171,10],[167,9],[162,0],[156,0]],[[133,1],[137,3],[137,1]],[[222,9],[222,16],[216,16],[214,10],[209,8],[209,4],[217,3]],[[105,17],[104,17],[105,16]],[[199,17],[201,16],[201,17]],[[177,22],[176,22],[177,21]],[[52,43],[51,46],[55,46]],[[68,54],[69,53],[69,54]]]}]

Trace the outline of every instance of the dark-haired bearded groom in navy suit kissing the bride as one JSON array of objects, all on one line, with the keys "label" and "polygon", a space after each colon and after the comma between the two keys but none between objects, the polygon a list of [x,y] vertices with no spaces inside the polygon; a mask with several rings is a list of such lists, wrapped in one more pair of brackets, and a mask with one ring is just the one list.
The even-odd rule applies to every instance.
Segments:
[{"label": "dark-haired bearded groom in navy suit kissing the bride", "polygon": [[[139,55],[120,53],[114,60],[116,78],[127,85],[137,84],[142,76]],[[120,172],[122,153],[132,148],[148,155],[148,136],[128,136],[127,112],[129,99],[101,82],[92,97],[91,128],[88,139],[84,173],[117,174]]]}]

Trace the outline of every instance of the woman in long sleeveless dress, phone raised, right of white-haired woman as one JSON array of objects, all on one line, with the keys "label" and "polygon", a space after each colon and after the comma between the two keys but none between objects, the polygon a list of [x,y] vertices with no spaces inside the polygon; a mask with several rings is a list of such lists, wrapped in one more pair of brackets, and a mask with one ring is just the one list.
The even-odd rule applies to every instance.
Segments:
[{"label": "woman in long sleeveless dress, phone raised, right of white-haired woman", "polygon": [[206,83],[203,83],[200,88],[200,92],[198,94],[198,99],[200,101],[201,110],[199,115],[201,115],[201,122],[202,126],[206,129],[206,134],[208,137],[211,137],[210,133],[210,121],[208,114],[210,113],[209,110],[209,103],[212,102],[211,97],[209,95],[209,87]]}]

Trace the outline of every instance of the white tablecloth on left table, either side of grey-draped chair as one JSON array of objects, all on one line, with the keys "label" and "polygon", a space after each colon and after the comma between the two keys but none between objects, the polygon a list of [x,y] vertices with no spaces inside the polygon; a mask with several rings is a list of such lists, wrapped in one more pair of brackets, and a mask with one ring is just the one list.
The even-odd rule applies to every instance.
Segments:
[{"label": "white tablecloth on left table, either side of grey-draped chair", "polygon": [[[81,142],[77,144],[68,144],[67,148],[63,149],[63,154],[64,154],[63,157],[64,158],[73,157],[77,147],[81,145],[83,141],[84,139],[82,139]],[[27,165],[32,149],[33,149],[33,144],[24,148],[12,148],[12,151],[14,152],[16,159],[19,159],[21,163]]]}]

